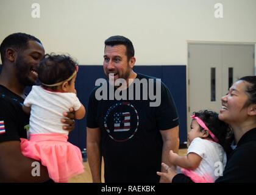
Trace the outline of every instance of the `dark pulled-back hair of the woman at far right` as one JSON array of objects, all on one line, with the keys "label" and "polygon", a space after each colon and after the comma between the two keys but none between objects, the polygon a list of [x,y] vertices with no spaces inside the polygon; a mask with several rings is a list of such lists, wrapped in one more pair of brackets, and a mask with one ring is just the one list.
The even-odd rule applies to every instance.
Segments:
[{"label": "dark pulled-back hair of the woman at far right", "polygon": [[247,107],[250,104],[256,104],[256,76],[246,76],[238,80],[243,80],[249,83],[246,88],[246,93],[248,94],[249,100],[244,106]]}]

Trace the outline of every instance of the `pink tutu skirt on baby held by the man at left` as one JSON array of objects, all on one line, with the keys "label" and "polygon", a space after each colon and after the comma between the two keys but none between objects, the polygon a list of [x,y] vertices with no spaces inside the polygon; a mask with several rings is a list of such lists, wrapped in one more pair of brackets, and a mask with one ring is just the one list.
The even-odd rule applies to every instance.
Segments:
[{"label": "pink tutu skirt on baby held by the man at left", "polygon": [[30,134],[30,140],[21,138],[21,152],[41,161],[54,182],[68,182],[70,177],[84,172],[81,151],[68,142],[66,135]]}]

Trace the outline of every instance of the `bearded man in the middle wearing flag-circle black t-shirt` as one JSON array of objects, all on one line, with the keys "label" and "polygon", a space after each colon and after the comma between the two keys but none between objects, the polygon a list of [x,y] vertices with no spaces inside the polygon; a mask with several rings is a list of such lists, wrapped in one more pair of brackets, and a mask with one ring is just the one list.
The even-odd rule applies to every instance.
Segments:
[{"label": "bearded man in the middle wearing flag-circle black t-shirt", "polygon": [[[132,42],[126,37],[105,41],[103,66],[110,80],[94,88],[87,113],[87,155],[93,182],[101,182],[101,156],[105,182],[165,182],[156,172],[162,161],[169,164],[170,150],[178,151],[179,118],[171,93],[159,80],[135,73],[135,61]],[[113,87],[120,79],[125,85]],[[147,85],[138,88],[137,82]],[[104,87],[107,90],[101,91]],[[109,92],[107,98],[99,98],[99,91]],[[151,105],[150,91],[160,97],[160,104]]]}]

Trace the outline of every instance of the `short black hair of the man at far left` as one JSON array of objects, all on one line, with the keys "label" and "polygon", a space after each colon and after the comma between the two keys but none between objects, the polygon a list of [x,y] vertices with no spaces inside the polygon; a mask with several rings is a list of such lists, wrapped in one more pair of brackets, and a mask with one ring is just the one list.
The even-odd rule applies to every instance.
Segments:
[{"label": "short black hair of the man at far left", "polygon": [[38,38],[29,34],[21,33],[21,32],[7,36],[0,45],[0,54],[1,54],[2,63],[4,63],[4,57],[5,57],[5,52],[7,48],[14,48],[17,51],[24,50],[27,48],[27,42],[30,40],[41,43],[41,41]]}]

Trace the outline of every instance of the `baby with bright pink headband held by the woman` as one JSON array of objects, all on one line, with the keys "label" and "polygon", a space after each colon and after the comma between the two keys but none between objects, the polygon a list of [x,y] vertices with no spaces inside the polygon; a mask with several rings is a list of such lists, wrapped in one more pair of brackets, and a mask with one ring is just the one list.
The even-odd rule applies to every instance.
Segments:
[{"label": "baby with bright pink headband held by the woman", "polygon": [[[227,162],[227,138],[230,136],[229,125],[219,120],[218,113],[209,110],[195,112],[188,132],[188,152],[179,156],[170,151],[169,161],[179,166],[178,173],[190,177],[195,183],[213,183],[222,175]],[[169,166],[162,163],[168,172]],[[218,167],[222,166],[222,169]],[[169,179],[169,172],[157,172],[159,176]]]}]

